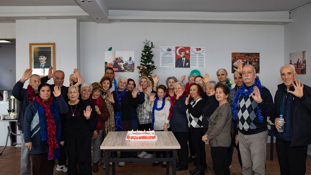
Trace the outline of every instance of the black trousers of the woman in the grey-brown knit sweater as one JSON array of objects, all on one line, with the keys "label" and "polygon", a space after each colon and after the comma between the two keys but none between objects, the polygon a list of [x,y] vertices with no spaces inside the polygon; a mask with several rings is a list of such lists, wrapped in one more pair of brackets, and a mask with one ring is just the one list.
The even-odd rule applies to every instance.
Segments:
[{"label": "black trousers of the woman in the grey-brown knit sweater", "polygon": [[211,146],[211,157],[213,160],[213,167],[215,175],[230,175],[229,165],[227,161],[227,147]]}]

